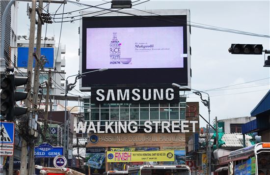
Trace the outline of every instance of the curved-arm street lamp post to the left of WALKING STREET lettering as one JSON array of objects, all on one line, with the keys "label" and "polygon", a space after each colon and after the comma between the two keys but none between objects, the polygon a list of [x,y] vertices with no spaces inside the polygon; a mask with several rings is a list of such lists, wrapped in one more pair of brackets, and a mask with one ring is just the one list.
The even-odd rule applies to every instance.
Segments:
[{"label": "curved-arm street lamp post to the left of WALKING STREET lettering", "polygon": [[[64,118],[64,155],[65,157],[68,159],[68,138],[67,138],[67,94],[70,90],[72,90],[75,86],[76,86],[76,83],[77,83],[77,80],[81,79],[83,76],[86,76],[84,74],[88,74],[88,73],[92,73],[92,72],[102,72],[102,71],[105,71],[105,70],[108,70],[108,68],[103,68],[103,69],[98,69],[98,70],[93,70],[93,71],[89,71],[89,72],[84,72],[84,73],[79,73],[79,74],[75,74],[75,75],[71,75],[71,76],[68,76],[67,79],[66,79],[66,87],[65,87],[65,118]],[[74,83],[70,83],[68,84],[68,78],[70,77],[74,77],[76,76],[75,78],[75,82]],[[69,132],[69,129],[68,129],[68,132]],[[67,149],[67,150],[66,150]]]}]

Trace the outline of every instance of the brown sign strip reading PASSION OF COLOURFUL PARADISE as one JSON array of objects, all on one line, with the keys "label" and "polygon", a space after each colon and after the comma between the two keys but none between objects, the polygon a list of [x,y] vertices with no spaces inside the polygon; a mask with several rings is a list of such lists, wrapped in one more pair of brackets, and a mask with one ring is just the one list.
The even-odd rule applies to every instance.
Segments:
[{"label": "brown sign strip reading PASSION OF COLOURFUL PARADISE", "polygon": [[[125,146],[185,146],[185,134],[183,133],[121,133],[121,134],[92,134],[98,138],[98,142],[92,141],[87,144],[90,146],[101,147],[125,147]],[[91,136],[92,136],[91,135]],[[90,136],[90,138],[91,138]],[[136,147],[137,147],[136,146]]]}]

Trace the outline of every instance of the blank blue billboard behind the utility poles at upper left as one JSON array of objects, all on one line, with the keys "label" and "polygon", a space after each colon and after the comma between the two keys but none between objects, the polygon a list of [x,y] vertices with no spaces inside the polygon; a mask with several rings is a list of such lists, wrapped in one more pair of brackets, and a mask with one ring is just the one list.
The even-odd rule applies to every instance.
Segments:
[{"label": "blank blue billboard behind the utility poles at upper left", "polygon": [[[34,52],[36,48],[34,48]],[[44,68],[53,68],[54,67],[54,48],[52,47],[42,47],[40,48],[40,55],[45,56],[47,61],[44,65]],[[35,58],[33,62],[33,67],[35,67]],[[17,57],[17,66],[27,68],[28,63],[28,47],[18,47],[18,57]]]}]

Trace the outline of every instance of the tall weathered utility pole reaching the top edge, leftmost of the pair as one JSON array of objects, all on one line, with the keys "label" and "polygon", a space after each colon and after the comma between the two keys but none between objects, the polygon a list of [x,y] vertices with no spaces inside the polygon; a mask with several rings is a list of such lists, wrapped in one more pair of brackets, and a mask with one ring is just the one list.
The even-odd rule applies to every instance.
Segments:
[{"label": "tall weathered utility pole reaching the top edge, leftmost of the pair", "polygon": [[[36,20],[36,0],[32,0],[32,11],[30,14],[30,35],[29,35],[29,46],[28,46],[28,63],[27,63],[27,74],[29,77],[27,83],[27,100],[26,107],[31,108],[31,80],[33,72],[33,52],[34,52],[34,41],[35,41],[35,20]],[[29,114],[29,112],[28,112]],[[29,162],[30,163],[30,162]],[[27,175],[27,142],[22,139],[22,150],[21,150],[21,167],[20,174]]]}]

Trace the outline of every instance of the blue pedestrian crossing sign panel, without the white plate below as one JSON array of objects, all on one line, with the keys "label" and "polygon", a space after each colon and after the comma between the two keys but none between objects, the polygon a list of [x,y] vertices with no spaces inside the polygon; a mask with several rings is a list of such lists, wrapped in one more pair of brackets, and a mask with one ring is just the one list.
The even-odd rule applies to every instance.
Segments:
[{"label": "blue pedestrian crossing sign panel, without the white plate below", "polygon": [[0,144],[14,144],[14,130],[13,122],[0,121]]}]

